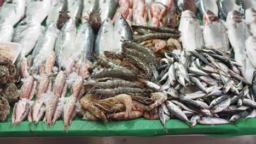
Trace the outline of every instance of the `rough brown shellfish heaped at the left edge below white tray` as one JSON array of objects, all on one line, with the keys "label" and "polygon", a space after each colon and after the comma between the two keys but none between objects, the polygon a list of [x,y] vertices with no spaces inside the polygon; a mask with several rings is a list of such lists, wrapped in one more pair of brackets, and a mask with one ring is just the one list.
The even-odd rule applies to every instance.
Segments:
[{"label": "rough brown shellfish heaped at the left edge below white tray", "polygon": [[10,61],[0,60],[0,123],[4,122],[19,97],[16,83],[20,81],[19,71]]}]

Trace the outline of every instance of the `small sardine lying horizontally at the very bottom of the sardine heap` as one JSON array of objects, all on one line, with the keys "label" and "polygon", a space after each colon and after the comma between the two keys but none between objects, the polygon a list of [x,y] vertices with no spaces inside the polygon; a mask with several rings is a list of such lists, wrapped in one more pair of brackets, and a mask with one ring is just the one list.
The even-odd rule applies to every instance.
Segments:
[{"label": "small sardine lying horizontally at the very bottom of the sardine heap", "polygon": [[202,117],[200,119],[196,120],[197,123],[200,124],[227,124],[230,123],[229,121],[226,121],[222,118],[216,118],[216,117]]}]

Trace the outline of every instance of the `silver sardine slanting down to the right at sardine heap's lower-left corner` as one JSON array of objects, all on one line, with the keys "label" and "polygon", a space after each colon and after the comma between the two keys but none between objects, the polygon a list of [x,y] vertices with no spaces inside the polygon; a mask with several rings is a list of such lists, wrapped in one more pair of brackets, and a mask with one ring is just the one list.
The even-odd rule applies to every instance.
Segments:
[{"label": "silver sardine slanting down to the right at sardine heap's lower-left corner", "polygon": [[166,101],[166,106],[167,109],[175,116],[177,116],[178,118],[182,119],[183,121],[187,121],[189,122],[187,116],[185,115],[185,113],[179,109],[175,104],[173,104],[171,101]]}]

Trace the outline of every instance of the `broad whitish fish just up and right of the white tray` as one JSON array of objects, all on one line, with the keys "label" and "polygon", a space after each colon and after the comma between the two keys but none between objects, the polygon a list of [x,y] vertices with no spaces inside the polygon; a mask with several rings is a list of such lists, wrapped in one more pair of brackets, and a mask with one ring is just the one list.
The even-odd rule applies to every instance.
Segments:
[{"label": "broad whitish fish just up and right of the white tray", "polygon": [[25,18],[19,23],[13,34],[13,42],[21,44],[21,57],[25,57],[34,49],[41,34],[42,27],[39,22]]}]

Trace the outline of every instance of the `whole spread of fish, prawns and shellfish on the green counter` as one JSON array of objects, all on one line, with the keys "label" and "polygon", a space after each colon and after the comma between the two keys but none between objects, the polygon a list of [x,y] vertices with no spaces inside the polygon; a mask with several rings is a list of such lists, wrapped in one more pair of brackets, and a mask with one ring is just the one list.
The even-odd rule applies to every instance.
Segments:
[{"label": "whole spread of fish, prawns and shellfish on the green counter", "polygon": [[5,0],[0,42],[22,49],[0,59],[0,122],[256,117],[255,20],[242,0]]}]

